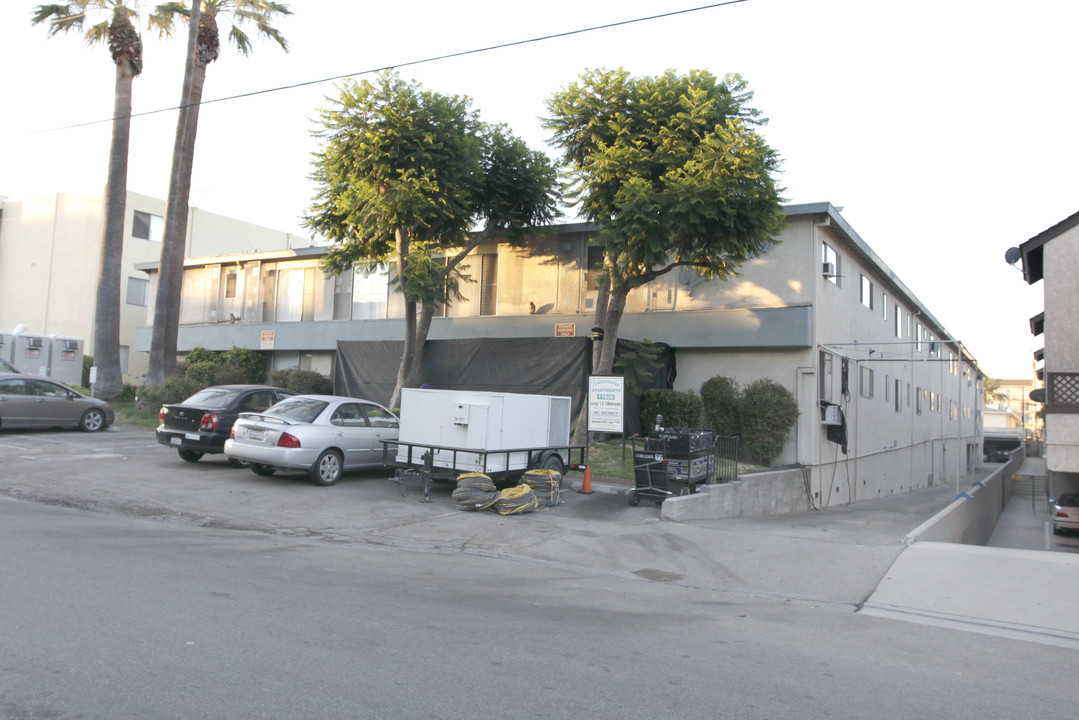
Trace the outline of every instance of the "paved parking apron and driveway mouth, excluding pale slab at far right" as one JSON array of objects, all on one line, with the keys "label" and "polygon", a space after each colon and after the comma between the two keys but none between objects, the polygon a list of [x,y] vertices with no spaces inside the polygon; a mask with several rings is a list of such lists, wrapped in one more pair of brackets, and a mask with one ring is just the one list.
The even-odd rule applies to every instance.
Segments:
[{"label": "paved parking apron and driveway mouth, excluding pale slab at far right", "polygon": [[[214,528],[425,553],[552,562],[599,573],[856,608],[943,500],[907,499],[865,520],[847,513],[723,521],[660,521],[653,503],[563,490],[563,503],[516,516],[455,510],[451,488],[402,488],[386,472],[317,487],[302,474],[260,477],[223,457],[187,463],[153,430],[0,433],[0,495]],[[401,490],[407,492],[402,497]],[[923,506],[924,505],[924,506]],[[815,543],[819,545],[815,548]],[[819,551],[819,554],[817,554]],[[811,558],[817,554],[820,562]]]}]

